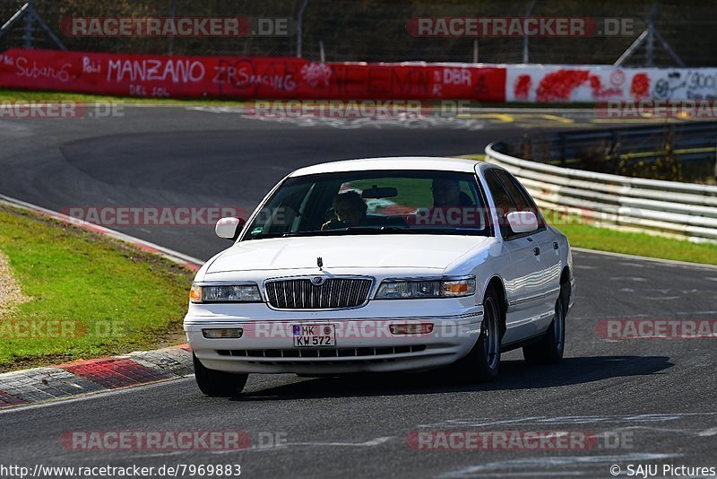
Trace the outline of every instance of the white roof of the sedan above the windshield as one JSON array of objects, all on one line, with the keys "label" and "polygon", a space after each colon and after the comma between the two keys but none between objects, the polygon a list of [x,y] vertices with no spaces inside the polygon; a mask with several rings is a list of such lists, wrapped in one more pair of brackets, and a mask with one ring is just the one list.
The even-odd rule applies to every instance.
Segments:
[{"label": "white roof of the sedan above the windshield", "polygon": [[437,156],[389,156],[384,158],[362,158],[358,160],[330,161],[307,166],[294,171],[289,177],[333,173],[341,171],[370,170],[434,170],[475,172],[476,161],[462,158]]}]

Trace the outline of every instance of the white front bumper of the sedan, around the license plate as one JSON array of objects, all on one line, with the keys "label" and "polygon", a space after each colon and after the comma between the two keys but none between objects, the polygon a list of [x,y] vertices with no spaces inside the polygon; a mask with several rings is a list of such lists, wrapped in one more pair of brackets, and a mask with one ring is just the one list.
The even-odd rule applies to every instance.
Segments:
[{"label": "white front bumper of the sedan, around the license plate", "polygon": [[[340,316],[340,312],[334,316]],[[284,316],[286,316],[284,314]],[[230,317],[185,318],[185,331],[194,354],[210,370],[237,373],[340,374],[428,370],[439,368],[471,351],[480,333],[482,306],[453,316],[376,318],[316,318],[301,311],[294,319]],[[422,335],[393,335],[390,326],[431,323]],[[330,347],[296,347],[294,325],[333,324],[336,344]],[[238,339],[208,339],[203,329],[241,327]]]}]

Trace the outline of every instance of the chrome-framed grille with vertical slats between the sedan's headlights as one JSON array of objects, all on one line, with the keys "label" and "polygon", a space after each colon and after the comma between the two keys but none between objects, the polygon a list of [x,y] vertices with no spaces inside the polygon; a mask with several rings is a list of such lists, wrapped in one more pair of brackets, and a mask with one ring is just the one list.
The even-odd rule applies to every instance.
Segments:
[{"label": "chrome-framed grille with vertical slats between the sedan's headlights", "polygon": [[356,308],[366,302],[371,283],[360,278],[328,278],[320,285],[309,278],[274,280],[266,283],[266,296],[277,309]]}]

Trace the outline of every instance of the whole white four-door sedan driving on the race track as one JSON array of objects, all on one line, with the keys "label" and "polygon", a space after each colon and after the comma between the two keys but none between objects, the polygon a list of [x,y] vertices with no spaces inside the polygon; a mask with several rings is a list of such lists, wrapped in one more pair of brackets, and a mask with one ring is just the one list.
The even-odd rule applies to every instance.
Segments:
[{"label": "whole white four-door sedan driving on the race track", "polygon": [[500,354],[557,362],[574,298],[566,237],[488,163],[401,157],[289,174],[192,284],[196,381],[231,396],[249,373],[429,370],[494,379]]}]

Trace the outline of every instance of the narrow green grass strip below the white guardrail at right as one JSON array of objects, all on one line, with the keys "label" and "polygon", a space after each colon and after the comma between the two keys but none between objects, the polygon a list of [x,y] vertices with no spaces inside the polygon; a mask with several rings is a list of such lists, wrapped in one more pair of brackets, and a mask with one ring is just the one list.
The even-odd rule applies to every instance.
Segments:
[{"label": "narrow green grass strip below the white guardrail at right", "polygon": [[[618,231],[580,223],[576,220],[565,221],[564,218],[555,214],[543,213],[546,215],[546,219],[556,219],[552,223],[567,236],[570,245],[575,248],[599,249],[600,251],[640,257],[657,257],[717,265],[716,243],[693,243],[647,233]],[[551,221],[549,220],[549,222]]]}]

